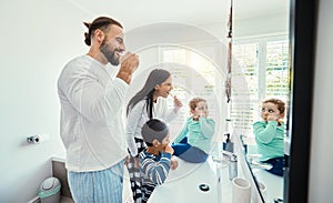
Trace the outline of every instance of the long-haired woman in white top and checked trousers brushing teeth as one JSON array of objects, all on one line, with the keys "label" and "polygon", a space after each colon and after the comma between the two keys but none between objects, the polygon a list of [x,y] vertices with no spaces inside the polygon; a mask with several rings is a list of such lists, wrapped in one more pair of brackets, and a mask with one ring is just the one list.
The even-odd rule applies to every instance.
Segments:
[{"label": "long-haired woman in white top and checked trousers brushing teeth", "polygon": [[157,118],[168,123],[176,116],[182,106],[181,101],[173,97],[174,108],[168,110],[167,106],[167,98],[172,89],[172,79],[169,71],[163,69],[152,70],[143,88],[130,100],[127,106],[128,124],[125,134],[130,152],[128,169],[134,202],[141,202],[142,197],[139,153],[147,145],[143,142],[141,129],[150,119]]}]

